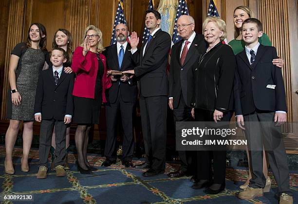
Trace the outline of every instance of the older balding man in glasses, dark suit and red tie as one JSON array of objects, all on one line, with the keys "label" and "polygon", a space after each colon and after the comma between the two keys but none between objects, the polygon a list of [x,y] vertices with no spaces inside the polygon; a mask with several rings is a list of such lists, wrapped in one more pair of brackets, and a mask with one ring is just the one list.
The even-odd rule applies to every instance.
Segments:
[{"label": "older balding man in glasses, dark suit and red tie", "polygon": [[[172,46],[169,74],[168,105],[173,110],[174,121],[190,121],[193,109],[190,101],[194,93],[192,70],[197,66],[200,54],[206,50],[204,36],[194,32],[195,22],[193,17],[183,15],[177,20],[177,30],[183,40]],[[181,160],[180,170],[170,172],[169,177],[181,177],[186,174],[195,175],[191,170],[194,162],[189,151],[179,151]],[[188,172],[186,172],[188,171]],[[192,178],[191,181],[195,182]]]}]

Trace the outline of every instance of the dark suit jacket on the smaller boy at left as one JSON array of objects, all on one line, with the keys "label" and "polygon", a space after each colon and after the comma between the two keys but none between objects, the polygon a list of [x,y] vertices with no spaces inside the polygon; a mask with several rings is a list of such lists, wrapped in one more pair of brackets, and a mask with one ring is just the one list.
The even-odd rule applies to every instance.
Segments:
[{"label": "dark suit jacket on the smaller boy at left", "polygon": [[65,115],[74,115],[75,74],[62,71],[55,84],[53,68],[40,72],[35,96],[34,113],[41,113],[41,119],[63,120]]}]

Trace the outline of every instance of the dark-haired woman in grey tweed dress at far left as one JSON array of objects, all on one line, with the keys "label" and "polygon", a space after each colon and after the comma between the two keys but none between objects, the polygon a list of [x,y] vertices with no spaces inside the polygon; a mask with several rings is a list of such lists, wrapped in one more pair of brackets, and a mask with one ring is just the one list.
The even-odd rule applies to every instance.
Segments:
[{"label": "dark-haired woman in grey tweed dress at far left", "polygon": [[15,173],[12,152],[21,121],[24,122],[21,170],[29,171],[28,157],[33,138],[35,94],[39,71],[46,67],[46,42],[45,27],[40,23],[33,23],[28,29],[26,42],[17,44],[11,51],[8,74],[11,89],[8,91],[6,113],[10,121],[5,135],[4,161],[7,174]]}]

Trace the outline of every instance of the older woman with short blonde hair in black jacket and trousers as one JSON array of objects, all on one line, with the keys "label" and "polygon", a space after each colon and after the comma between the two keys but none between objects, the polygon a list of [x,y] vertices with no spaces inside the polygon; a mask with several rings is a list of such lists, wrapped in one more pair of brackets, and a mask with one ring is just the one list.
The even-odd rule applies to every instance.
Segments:
[{"label": "older woman with short blonde hair in black jacket and trousers", "polygon": [[[222,43],[225,22],[218,17],[207,17],[203,31],[208,48],[194,70],[196,93],[193,105],[196,121],[229,121],[229,101],[233,87],[236,61],[230,46]],[[217,194],[225,187],[226,151],[198,151],[197,179],[192,188],[209,186],[205,192]],[[213,171],[212,171],[213,159]]]}]

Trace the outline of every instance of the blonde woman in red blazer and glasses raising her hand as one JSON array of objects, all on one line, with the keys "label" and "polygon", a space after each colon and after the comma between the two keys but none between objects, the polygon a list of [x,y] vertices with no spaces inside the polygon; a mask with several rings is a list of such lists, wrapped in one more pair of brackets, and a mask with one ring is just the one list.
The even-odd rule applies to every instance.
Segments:
[{"label": "blonde woman in red blazer and glasses raising her hand", "polygon": [[103,50],[101,31],[90,25],[73,55],[72,69],[76,73],[73,121],[78,124],[75,131],[77,169],[83,174],[97,170],[87,160],[89,131],[92,124],[99,123],[101,103],[106,102],[105,89],[112,85],[106,74]]}]

